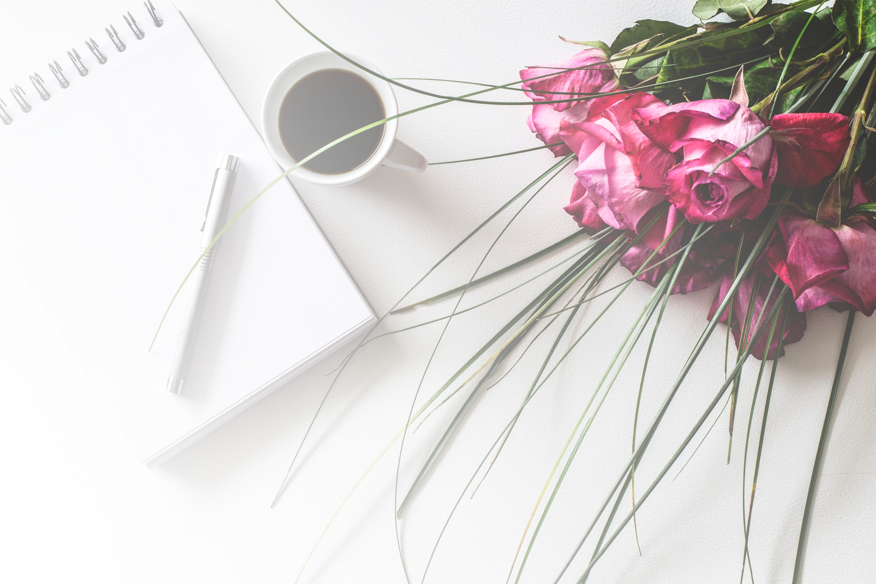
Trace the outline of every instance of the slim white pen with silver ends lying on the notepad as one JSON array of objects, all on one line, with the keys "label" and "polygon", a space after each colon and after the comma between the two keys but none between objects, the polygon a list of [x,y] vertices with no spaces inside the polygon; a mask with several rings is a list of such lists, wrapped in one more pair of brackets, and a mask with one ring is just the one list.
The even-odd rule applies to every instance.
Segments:
[{"label": "slim white pen with silver ends lying on the notepad", "polygon": [[204,257],[189,278],[188,304],[183,314],[180,336],[173,349],[170,365],[170,375],[167,377],[167,391],[180,393],[185,383],[188,362],[192,357],[194,339],[198,334],[198,321],[201,320],[201,308],[207,298],[207,287],[210,283],[210,272],[213,271],[216,245],[204,253],[209,244],[219,234],[225,225],[225,215],[228,214],[228,204],[231,201],[231,191],[234,189],[234,179],[237,178],[237,164],[240,158],[230,154],[219,155],[216,170],[213,175],[213,187],[207,200],[207,210],[204,212],[204,222],[201,224],[201,254]]}]

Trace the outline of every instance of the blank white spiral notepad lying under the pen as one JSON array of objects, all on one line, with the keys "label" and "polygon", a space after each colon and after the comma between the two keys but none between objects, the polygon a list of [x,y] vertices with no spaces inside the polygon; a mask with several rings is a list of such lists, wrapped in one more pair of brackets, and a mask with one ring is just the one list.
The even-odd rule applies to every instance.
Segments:
[{"label": "blank white spiral notepad lying under the pen", "polygon": [[229,216],[279,167],[173,5],[109,18],[43,63],[0,101],[0,237],[140,460],[165,460],[371,324],[284,179],[223,236],[186,391],[165,391],[181,302],[148,348],[197,259],[216,155],[241,160]]}]

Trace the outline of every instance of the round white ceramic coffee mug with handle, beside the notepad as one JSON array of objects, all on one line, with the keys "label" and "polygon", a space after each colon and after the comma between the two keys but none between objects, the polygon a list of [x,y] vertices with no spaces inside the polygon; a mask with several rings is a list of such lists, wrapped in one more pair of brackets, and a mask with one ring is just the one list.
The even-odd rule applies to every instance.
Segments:
[{"label": "round white ceramic coffee mug with handle, beside the notepad", "polygon": [[[379,73],[377,67],[371,65],[367,60],[350,53],[344,54],[364,67],[371,69],[371,71]],[[324,69],[343,69],[344,71],[350,71],[350,73],[359,75],[370,83],[371,87],[377,92],[380,100],[383,102],[386,117],[392,117],[399,113],[399,104],[395,101],[392,85],[379,77],[366,73],[359,67],[343,60],[335,53],[321,51],[293,60],[274,78],[271,87],[268,88],[265,95],[265,102],[262,105],[262,131],[265,143],[272,156],[285,169],[295,165],[296,161],[286,151],[279,136],[280,105],[289,89],[300,81],[301,78]],[[364,179],[371,172],[377,170],[379,165],[392,166],[413,172],[425,171],[428,165],[426,158],[423,158],[420,152],[413,150],[404,142],[396,139],[395,133],[398,128],[398,119],[386,122],[384,124],[383,139],[380,141],[377,150],[374,151],[371,158],[368,158],[364,164],[357,166],[357,168],[349,172],[321,174],[300,166],[293,170],[291,175],[293,178],[309,180],[320,185],[349,185],[357,180]]]}]

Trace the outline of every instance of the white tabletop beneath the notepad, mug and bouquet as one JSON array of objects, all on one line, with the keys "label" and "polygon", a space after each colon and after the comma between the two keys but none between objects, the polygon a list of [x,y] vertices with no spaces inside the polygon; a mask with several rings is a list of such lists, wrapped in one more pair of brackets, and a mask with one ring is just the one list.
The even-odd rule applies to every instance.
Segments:
[{"label": "white tabletop beneath the notepad, mug and bouquet", "polygon": [[[287,2],[315,32],[342,50],[363,55],[385,74],[501,83],[512,81],[520,67],[573,53],[575,47],[563,44],[557,35],[611,41],[634,18],[689,21],[691,3],[669,4],[644,0]],[[319,48],[271,0],[178,0],[177,5],[253,120],[259,117],[262,95],[273,74],[300,54]],[[22,74],[45,62],[46,52],[67,43],[81,44],[87,36],[102,38],[108,16],[117,18],[119,12],[137,6],[141,5],[117,0],[4,2],[0,19],[4,85],[0,87],[6,92],[16,81],[24,85]],[[422,86],[458,93],[465,88],[429,82]],[[401,109],[426,102],[420,95],[399,91]],[[538,144],[526,129],[526,115],[522,107],[453,104],[403,119],[399,137],[432,161],[512,151]],[[343,188],[296,186],[366,298],[382,313],[492,209],[551,164],[546,151],[536,151],[435,166],[422,175],[383,168]],[[2,165],[0,161],[0,172]],[[542,191],[505,234],[484,269],[571,233],[574,225],[562,205],[572,181],[570,172],[565,172]],[[498,224],[488,236],[465,246],[413,296],[421,298],[470,278],[497,233]],[[14,259],[3,249],[0,274],[4,398],[0,581],[4,582],[293,581],[337,505],[404,423],[441,330],[441,325],[431,325],[385,337],[357,357],[314,426],[293,482],[272,510],[268,505],[328,387],[325,375],[336,367],[339,355],[150,471],[129,452],[64,341],[32,298]],[[621,275],[618,272],[616,278]],[[520,276],[505,278],[500,285],[510,287],[515,278]],[[505,304],[455,320],[419,403],[533,290],[530,286]],[[486,298],[485,293],[472,294],[472,302]],[[632,314],[649,293],[646,285],[633,285],[610,313],[611,320],[585,338],[533,400],[477,495],[463,497],[427,581],[505,581],[541,485]],[[651,419],[702,330],[712,293],[670,301],[649,371],[643,421]],[[434,318],[451,306],[444,302],[399,322]],[[470,306],[469,301],[463,300],[463,306]],[[752,520],[752,565],[759,584],[790,580],[843,326],[842,315],[829,310],[812,314],[806,337],[781,361]],[[723,339],[724,328],[718,333]],[[876,429],[872,415],[876,365],[868,348],[876,342],[876,321],[859,317],[852,342],[813,510],[804,582],[869,582],[876,572],[872,554],[876,450],[871,447]],[[544,344],[540,347],[533,348],[530,356],[543,353]],[[556,566],[562,565],[601,502],[606,483],[625,462],[641,358],[642,351],[637,350],[594,422],[521,581],[553,580]],[[449,509],[519,405],[536,364],[533,359],[522,362],[478,400],[399,522],[411,581],[420,581]],[[717,391],[722,369],[723,341],[716,339],[684,385],[665,431],[655,440],[650,461],[637,474],[637,485],[646,485],[702,412]],[[738,579],[743,537],[742,428],[752,391],[751,364],[745,371],[731,464],[725,464],[725,413],[679,479],[662,484],[639,513],[642,556],[632,531],[625,531],[591,581]],[[401,464],[402,493],[462,404],[463,393],[408,437]],[[685,454],[682,460],[687,458]],[[398,449],[393,448],[357,489],[301,581],[405,581],[392,520],[397,460]],[[668,478],[676,473],[673,469]]]}]

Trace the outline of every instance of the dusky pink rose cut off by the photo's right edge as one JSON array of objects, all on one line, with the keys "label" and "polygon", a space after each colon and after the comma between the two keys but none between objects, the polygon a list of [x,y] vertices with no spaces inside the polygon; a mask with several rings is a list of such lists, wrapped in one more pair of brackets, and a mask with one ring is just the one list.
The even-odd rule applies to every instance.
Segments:
[{"label": "dusky pink rose cut off by the photo's right edge", "polygon": [[[871,201],[860,179],[852,205]],[[779,218],[767,259],[794,292],[797,308],[825,304],[837,309],[854,306],[870,316],[876,310],[876,229],[871,219],[852,215],[834,229],[798,211]]]}]

